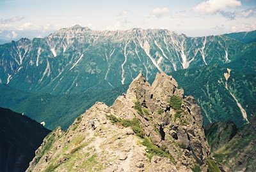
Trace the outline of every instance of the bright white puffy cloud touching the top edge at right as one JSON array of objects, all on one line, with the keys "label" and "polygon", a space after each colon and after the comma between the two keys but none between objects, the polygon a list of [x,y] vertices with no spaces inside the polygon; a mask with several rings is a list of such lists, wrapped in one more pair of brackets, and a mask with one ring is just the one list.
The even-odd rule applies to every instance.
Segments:
[{"label": "bright white puffy cloud touching the top edge at right", "polygon": [[208,0],[198,4],[193,10],[199,13],[213,14],[227,8],[235,8],[241,5],[241,1],[237,0]]}]

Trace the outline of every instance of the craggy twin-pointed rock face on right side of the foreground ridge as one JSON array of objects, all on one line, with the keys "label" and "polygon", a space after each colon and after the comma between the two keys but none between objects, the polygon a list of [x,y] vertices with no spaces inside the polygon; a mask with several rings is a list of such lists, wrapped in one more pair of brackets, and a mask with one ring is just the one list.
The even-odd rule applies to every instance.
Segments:
[{"label": "craggy twin-pointed rock face on right side of the foreground ridge", "polygon": [[[170,105],[172,96],[181,102],[177,110]],[[135,102],[140,103],[140,111],[134,109]],[[184,90],[178,88],[172,76],[157,73],[150,86],[140,73],[129,86],[126,97],[116,99],[113,110],[121,118],[140,118],[146,135],[158,147],[166,147],[176,162],[191,168],[195,164],[205,166],[210,152],[200,107],[193,97],[184,96]]]}]

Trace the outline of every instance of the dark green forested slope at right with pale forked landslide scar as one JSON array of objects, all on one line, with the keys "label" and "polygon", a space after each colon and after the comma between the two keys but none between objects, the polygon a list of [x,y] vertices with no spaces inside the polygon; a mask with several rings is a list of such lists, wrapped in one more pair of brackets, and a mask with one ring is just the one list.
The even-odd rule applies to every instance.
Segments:
[{"label": "dark green forested slope at right with pale forked landslide scar", "polygon": [[248,45],[249,51],[228,64],[173,73],[180,86],[200,104],[204,124],[231,120],[241,127],[256,111],[255,45]]}]

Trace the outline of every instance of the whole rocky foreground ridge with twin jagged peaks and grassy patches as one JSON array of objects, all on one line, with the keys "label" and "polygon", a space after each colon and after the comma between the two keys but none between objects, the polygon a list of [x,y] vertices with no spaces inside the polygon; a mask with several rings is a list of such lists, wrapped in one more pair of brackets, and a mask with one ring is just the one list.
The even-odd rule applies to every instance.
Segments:
[{"label": "whole rocky foreground ridge with twin jagged peaks and grassy patches", "polygon": [[[93,129],[90,122],[94,120]],[[52,131],[27,171],[220,171],[202,115],[172,76],[142,73],[113,106],[95,103],[66,132]]]}]

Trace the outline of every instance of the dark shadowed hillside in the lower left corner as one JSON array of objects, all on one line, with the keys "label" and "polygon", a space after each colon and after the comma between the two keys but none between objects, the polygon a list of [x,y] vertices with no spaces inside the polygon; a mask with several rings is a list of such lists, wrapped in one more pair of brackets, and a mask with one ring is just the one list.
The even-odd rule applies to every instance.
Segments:
[{"label": "dark shadowed hillside in the lower left corner", "polygon": [[25,115],[0,108],[0,171],[25,171],[49,132]]}]

